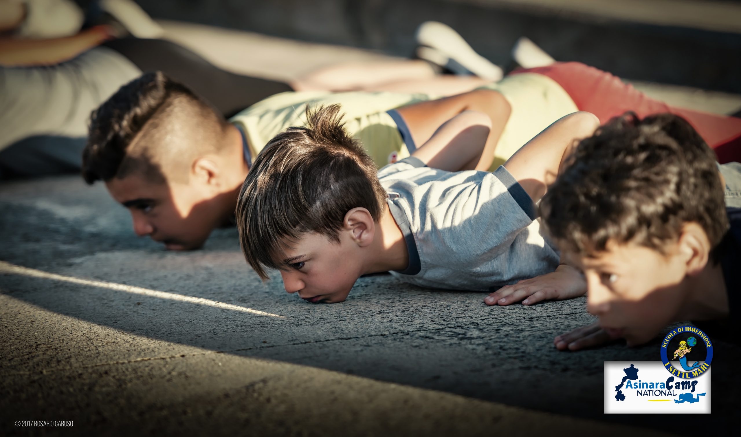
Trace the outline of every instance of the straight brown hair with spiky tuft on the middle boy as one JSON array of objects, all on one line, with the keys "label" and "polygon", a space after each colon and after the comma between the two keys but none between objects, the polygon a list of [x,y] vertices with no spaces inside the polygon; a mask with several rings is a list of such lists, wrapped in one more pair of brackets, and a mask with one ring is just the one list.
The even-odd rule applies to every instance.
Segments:
[{"label": "straight brown hair with spiky tuft on the middle boy", "polygon": [[376,164],[345,131],[340,106],[307,108],[306,115],[306,127],[270,139],[239,193],[239,243],[263,280],[265,268],[281,268],[274,257],[286,241],[316,232],[339,243],[350,209],[366,208],[376,221],[384,211]]}]

